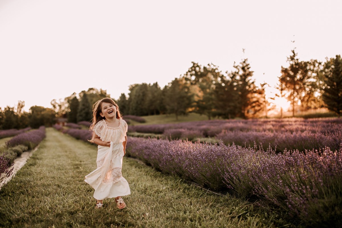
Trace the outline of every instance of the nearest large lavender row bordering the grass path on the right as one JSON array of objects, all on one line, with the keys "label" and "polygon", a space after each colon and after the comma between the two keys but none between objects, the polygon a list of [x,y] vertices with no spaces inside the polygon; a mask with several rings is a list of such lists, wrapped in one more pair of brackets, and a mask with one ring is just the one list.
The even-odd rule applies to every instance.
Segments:
[{"label": "nearest large lavender row bordering the grass path on the right", "polygon": [[277,154],[222,142],[130,137],[127,154],[211,189],[231,188],[240,196],[257,197],[306,226],[342,222],[337,213],[342,210],[342,149]]}]

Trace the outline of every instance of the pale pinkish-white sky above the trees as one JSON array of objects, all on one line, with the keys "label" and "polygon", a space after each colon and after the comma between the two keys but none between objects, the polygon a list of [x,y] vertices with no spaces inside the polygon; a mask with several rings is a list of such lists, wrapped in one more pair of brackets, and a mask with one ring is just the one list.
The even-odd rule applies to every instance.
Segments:
[{"label": "pale pinkish-white sky above the trees", "polygon": [[248,58],[256,82],[274,86],[294,47],[303,61],[342,54],[341,9],[340,0],[0,0],[0,107],[51,107],[91,87],[117,99],[130,84],[165,86],[192,61],[225,72]]}]

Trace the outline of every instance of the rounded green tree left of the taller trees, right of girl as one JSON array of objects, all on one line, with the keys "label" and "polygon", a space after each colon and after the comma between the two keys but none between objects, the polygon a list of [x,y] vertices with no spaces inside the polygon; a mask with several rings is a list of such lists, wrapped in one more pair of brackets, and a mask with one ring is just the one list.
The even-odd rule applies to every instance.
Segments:
[{"label": "rounded green tree left of the taller trees, right of girl", "polygon": [[193,94],[184,78],[175,78],[165,86],[164,103],[168,113],[174,113],[176,120],[179,115],[186,115],[193,103]]}]

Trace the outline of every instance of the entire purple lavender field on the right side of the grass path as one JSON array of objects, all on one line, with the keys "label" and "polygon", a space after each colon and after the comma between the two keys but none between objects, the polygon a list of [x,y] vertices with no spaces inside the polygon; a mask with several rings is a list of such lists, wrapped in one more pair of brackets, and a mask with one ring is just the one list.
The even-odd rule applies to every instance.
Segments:
[{"label": "entire purple lavender field on the right side of the grass path", "polygon": [[[129,137],[127,155],[209,189],[231,189],[296,223],[338,226],[341,126],[342,120],[333,118],[136,125],[129,131],[163,134],[165,139]],[[84,141],[91,137],[87,130],[62,131]],[[218,143],[197,140],[205,137]]]}]

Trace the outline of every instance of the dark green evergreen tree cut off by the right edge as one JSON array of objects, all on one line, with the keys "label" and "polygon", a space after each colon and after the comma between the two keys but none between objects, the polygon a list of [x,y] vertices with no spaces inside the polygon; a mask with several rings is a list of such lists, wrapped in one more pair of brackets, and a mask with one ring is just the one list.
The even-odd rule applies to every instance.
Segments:
[{"label": "dark green evergreen tree cut off by the right edge", "polygon": [[340,55],[327,60],[324,64],[323,75],[326,83],[323,89],[324,103],[330,111],[336,112],[340,117],[342,112],[342,59]]}]

